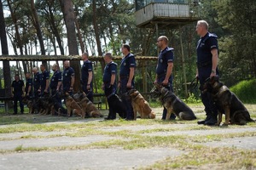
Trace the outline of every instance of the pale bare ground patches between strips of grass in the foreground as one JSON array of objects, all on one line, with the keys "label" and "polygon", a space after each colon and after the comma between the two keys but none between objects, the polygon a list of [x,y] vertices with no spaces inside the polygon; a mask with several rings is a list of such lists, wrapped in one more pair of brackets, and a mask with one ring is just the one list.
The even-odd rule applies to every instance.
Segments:
[{"label": "pale bare ground patches between strips of grass in the foreground", "polygon": [[[161,108],[154,109],[155,112],[161,112]],[[193,108],[197,116],[204,113],[201,106]],[[107,111],[104,111],[107,114]],[[39,115],[25,115],[28,119],[34,120],[39,124],[73,124],[73,123],[87,123],[87,122],[102,122],[103,118],[71,120],[67,117],[52,117]],[[3,117],[3,116],[2,116]],[[0,117],[1,118],[1,117]],[[41,119],[44,119],[42,121]],[[49,119],[49,120],[48,120]],[[156,117],[160,119],[160,114]],[[47,121],[48,120],[48,121]],[[119,120],[116,120],[117,122]],[[3,127],[13,127],[15,124],[1,125]],[[142,130],[150,130],[161,128],[176,129],[184,127],[198,127],[196,130],[176,130],[173,132],[163,131],[154,133],[143,133],[143,136],[175,136],[175,135],[189,135],[201,136],[211,134],[232,134],[243,132],[256,132],[256,127],[244,126],[239,128],[214,128],[214,129],[200,129],[201,125],[193,123],[166,123],[166,124],[149,124],[149,125],[133,125],[133,126],[112,126],[102,127],[104,132],[120,132],[123,130],[130,130],[137,132]],[[65,136],[66,132],[52,131],[52,132],[23,132],[23,133],[0,133],[0,150],[5,150],[7,153],[0,155],[0,169],[38,169],[38,170],[54,170],[54,169],[139,169],[153,165],[156,161],[164,161],[166,158],[172,158],[187,154],[184,150],[176,148],[161,148],[153,147],[150,149],[135,149],[124,150],[121,147],[107,148],[107,149],[86,149],[86,150],[59,150],[59,151],[11,151],[18,146],[25,148],[41,148],[41,147],[56,147],[56,146],[70,146],[79,144],[93,144],[99,141],[106,141],[112,139],[121,139],[122,137],[113,137],[108,135],[89,135],[84,137],[70,137]],[[37,136],[37,138],[23,138],[24,136]],[[49,136],[53,136],[50,137]],[[205,145],[209,147],[236,147],[242,150],[256,150],[256,136],[246,136],[241,138],[220,139],[220,141],[206,142]],[[127,139],[127,143],[129,139]],[[216,167],[216,166],[215,166]],[[199,169],[207,169],[203,166]],[[218,169],[218,166],[216,167]]]}]

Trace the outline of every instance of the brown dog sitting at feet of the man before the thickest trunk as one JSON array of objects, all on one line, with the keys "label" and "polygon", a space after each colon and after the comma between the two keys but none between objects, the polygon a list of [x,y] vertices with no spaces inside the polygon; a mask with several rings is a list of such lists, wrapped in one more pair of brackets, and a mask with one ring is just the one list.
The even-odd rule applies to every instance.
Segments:
[{"label": "brown dog sitting at feet of the man before the thickest trunk", "polygon": [[74,114],[81,116],[81,118],[85,117],[83,109],[68,93],[64,94],[64,98],[66,99],[67,116],[71,116],[71,111],[73,111]]}]

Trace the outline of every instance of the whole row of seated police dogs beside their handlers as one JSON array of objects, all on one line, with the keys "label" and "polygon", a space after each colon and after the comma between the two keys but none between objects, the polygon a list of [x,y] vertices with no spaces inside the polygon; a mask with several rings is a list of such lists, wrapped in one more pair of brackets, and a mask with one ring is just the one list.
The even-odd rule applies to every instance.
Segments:
[{"label": "whole row of seated police dogs beside their handlers", "polygon": [[[224,125],[238,124],[245,125],[247,122],[254,122],[250,117],[246,107],[241,103],[241,100],[233,94],[224,83],[218,81],[218,77],[212,77],[205,82],[202,93],[209,92],[212,94],[212,99],[218,108],[218,122],[219,126],[222,122],[222,115],[225,115]],[[161,104],[166,108],[166,120],[174,113],[180,120],[195,120],[195,113],[186,105],[183,100],[179,99],[175,94],[170,92],[167,88],[161,85],[155,85],[150,94],[154,98],[160,99]],[[52,114],[58,116],[72,116],[78,115],[84,118],[102,117],[102,114],[96,106],[86,97],[85,94],[74,94],[73,97],[68,94],[61,94],[65,99],[67,110],[63,108],[54,97],[39,98],[36,101],[24,101],[29,108],[29,113],[32,113],[35,108],[42,114]],[[137,119],[137,113],[141,118],[155,118],[155,113],[148,105],[148,102],[143,98],[136,89],[131,89],[127,92],[127,97],[131,99],[131,105],[134,112],[134,120]],[[32,103],[31,103],[32,102]],[[35,106],[37,104],[37,107]],[[121,118],[125,118],[127,110],[124,103],[117,94],[114,94],[108,99],[108,105],[112,106],[113,112],[118,113]]]}]

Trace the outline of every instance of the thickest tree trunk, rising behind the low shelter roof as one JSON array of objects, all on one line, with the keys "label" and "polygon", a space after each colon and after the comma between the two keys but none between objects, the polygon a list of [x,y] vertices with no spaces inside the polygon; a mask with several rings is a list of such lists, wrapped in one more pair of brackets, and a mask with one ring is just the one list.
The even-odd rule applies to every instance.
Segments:
[{"label": "thickest tree trunk, rising behind the low shelter roof", "polygon": [[[70,55],[78,55],[79,48],[77,43],[77,36],[75,31],[74,24],[74,13],[73,13],[73,2],[72,0],[60,0],[61,7],[63,8],[64,20],[67,27],[67,43],[68,43],[68,51]],[[70,66],[73,67],[75,71],[75,83],[74,83],[74,93],[81,91],[80,86],[80,62],[79,61],[70,61]]]}]

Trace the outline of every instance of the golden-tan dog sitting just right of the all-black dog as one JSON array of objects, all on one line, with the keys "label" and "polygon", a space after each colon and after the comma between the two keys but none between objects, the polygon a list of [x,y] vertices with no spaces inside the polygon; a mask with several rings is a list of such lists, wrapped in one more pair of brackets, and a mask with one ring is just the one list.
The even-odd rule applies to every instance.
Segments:
[{"label": "golden-tan dog sitting just right of the all-black dog", "polygon": [[134,120],[137,118],[137,112],[140,114],[141,118],[155,118],[155,113],[152,111],[151,107],[148,105],[148,102],[143,98],[143,95],[139,93],[136,89],[131,89],[128,92],[131,98],[131,105],[134,112]]}]

